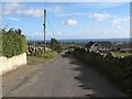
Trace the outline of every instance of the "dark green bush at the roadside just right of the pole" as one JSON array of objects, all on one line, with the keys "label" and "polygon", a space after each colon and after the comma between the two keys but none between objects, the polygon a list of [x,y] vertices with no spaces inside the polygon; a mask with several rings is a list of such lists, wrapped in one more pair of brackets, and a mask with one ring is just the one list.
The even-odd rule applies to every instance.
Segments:
[{"label": "dark green bush at the roadside just right of the pole", "polygon": [[61,44],[57,42],[57,40],[55,38],[52,38],[51,40],[51,48],[53,51],[56,51],[57,53],[61,53],[62,52],[62,47],[61,47]]}]

